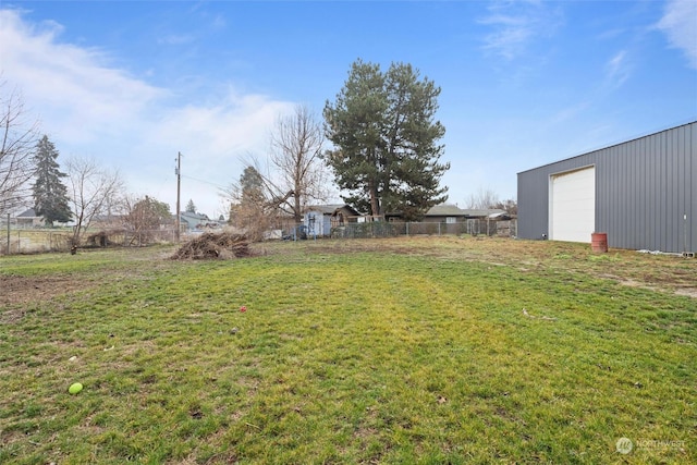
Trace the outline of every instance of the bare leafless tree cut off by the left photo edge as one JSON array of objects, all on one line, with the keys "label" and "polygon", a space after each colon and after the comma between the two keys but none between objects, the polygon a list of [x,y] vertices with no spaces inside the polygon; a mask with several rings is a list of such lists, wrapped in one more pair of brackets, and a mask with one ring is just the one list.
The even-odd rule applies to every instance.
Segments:
[{"label": "bare leafless tree cut off by the left photo edge", "polygon": [[38,140],[38,123],[26,120],[17,91],[4,95],[0,83],[0,213],[11,211],[30,196],[32,157]]}]

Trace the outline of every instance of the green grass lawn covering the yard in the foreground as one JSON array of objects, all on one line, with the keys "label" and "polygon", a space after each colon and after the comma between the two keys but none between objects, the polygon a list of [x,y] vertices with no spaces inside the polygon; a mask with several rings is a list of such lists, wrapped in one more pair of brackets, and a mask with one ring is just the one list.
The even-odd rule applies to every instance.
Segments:
[{"label": "green grass lawn covering the yard in the foreground", "polygon": [[0,463],[697,462],[697,261],[496,244],[2,257]]}]

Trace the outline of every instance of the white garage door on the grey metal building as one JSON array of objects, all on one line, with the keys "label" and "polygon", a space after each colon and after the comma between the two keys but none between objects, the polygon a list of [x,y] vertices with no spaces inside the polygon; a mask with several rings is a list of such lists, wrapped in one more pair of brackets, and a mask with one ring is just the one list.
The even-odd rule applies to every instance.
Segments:
[{"label": "white garage door on the grey metal building", "polygon": [[596,168],[553,174],[550,182],[549,238],[590,242],[596,229]]}]

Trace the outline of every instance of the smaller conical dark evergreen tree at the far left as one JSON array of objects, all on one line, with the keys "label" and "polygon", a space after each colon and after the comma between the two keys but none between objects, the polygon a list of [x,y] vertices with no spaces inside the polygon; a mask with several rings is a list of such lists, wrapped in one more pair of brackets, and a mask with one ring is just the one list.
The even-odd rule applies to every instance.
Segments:
[{"label": "smaller conical dark evergreen tree at the far left", "polygon": [[41,137],[36,145],[34,163],[36,166],[36,181],[32,186],[34,195],[34,211],[42,216],[46,225],[53,225],[54,221],[68,222],[72,217],[70,210],[68,187],[61,181],[66,174],[61,172],[58,164],[58,150],[48,136]]}]

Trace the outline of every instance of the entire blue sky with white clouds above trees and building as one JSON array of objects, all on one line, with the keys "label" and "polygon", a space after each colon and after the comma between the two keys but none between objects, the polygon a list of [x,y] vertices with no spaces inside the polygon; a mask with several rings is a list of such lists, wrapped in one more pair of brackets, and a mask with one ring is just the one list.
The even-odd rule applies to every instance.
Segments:
[{"label": "entire blue sky with white clouds above trees and building", "polygon": [[442,88],[442,184],[466,205],[516,173],[697,120],[697,2],[7,1],[0,70],[61,152],[129,191],[227,213],[297,103],[321,118],[357,58]]}]

